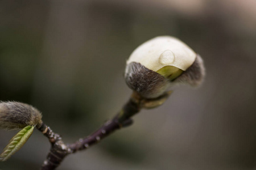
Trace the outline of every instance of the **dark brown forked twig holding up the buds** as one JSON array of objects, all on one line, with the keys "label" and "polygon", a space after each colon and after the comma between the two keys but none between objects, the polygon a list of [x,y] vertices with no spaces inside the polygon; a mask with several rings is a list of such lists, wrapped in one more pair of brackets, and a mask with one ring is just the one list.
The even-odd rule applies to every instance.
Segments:
[{"label": "dark brown forked twig holding up the buds", "polygon": [[133,92],[130,100],[123,106],[122,110],[112,118],[112,120],[107,121],[101,126],[101,128],[90,134],[88,137],[83,139],[81,138],[79,141],[71,144],[64,144],[60,135],[54,133],[47,125],[43,123],[38,129],[49,139],[51,149],[41,169],[55,169],[60,165],[65,156],[73,154],[76,151],[85,150],[100,142],[103,138],[107,137],[115,130],[131,125],[133,123],[131,117],[141,110],[141,103],[142,98],[136,92]]}]

